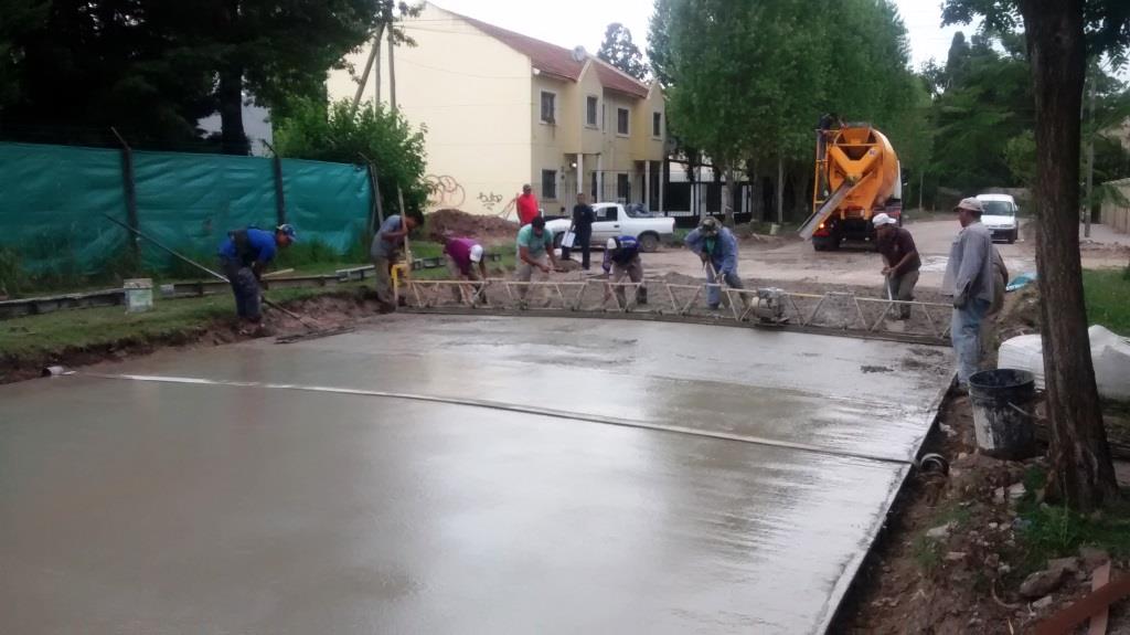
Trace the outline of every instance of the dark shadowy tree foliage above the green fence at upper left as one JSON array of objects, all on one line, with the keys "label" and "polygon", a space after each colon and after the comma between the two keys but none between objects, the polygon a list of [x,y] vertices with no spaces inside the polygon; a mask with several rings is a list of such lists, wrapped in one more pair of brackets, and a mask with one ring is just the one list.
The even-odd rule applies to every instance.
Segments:
[{"label": "dark shadowy tree foliage above the green fence at upper left", "polygon": [[182,149],[217,111],[245,153],[247,93],[285,113],[393,0],[0,0],[0,119],[9,136]]}]

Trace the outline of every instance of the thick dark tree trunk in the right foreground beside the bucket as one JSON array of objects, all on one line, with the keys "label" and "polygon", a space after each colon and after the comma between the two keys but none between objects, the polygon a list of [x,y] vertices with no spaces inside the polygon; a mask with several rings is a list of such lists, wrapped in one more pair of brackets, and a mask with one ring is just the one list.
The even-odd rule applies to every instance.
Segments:
[{"label": "thick dark tree trunk in the right foreground beside the bucket", "polygon": [[1079,262],[1083,0],[1020,0],[1036,105],[1036,264],[1048,382],[1049,494],[1090,511],[1118,497]]}]

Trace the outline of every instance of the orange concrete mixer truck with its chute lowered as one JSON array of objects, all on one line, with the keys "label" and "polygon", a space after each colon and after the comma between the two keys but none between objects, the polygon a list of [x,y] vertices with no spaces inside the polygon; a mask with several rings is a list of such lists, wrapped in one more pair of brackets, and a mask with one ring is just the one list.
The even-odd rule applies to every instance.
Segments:
[{"label": "orange concrete mixer truck with its chute lowered", "polygon": [[816,251],[844,241],[875,244],[871,217],[886,212],[902,225],[902,174],[890,141],[867,123],[822,125],[816,141],[812,215],[800,228]]}]

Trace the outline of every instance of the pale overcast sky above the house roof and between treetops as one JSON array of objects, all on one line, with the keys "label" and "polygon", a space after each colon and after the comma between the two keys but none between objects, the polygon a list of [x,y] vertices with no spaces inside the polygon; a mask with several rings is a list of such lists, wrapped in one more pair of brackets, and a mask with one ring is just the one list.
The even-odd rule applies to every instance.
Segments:
[{"label": "pale overcast sky above the house roof and between treetops", "polygon": [[[623,23],[646,51],[647,21],[653,0],[437,0],[436,6],[503,28],[545,40],[566,49],[577,44],[596,53],[609,23]],[[958,27],[941,28],[941,0],[895,0],[906,23],[912,64],[918,69],[931,58],[946,60]],[[965,28],[966,35],[972,31]]]}]

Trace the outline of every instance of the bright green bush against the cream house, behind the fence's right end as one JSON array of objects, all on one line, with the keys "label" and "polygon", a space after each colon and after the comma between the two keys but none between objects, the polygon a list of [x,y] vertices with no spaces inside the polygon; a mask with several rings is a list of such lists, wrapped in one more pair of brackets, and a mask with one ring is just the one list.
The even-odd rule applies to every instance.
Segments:
[{"label": "bright green bush against the cream house, behind the fence's right end", "polygon": [[355,111],[351,99],[329,106],[320,99],[302,99],[292,108],[292,115],[279,122],[275,132],[280,156],[337,163],[372,160],[385,214],[399,209],[397,188],[403,192],[405,207],[412,214],[421,212],[428,195],[423,128],[412,128],[403,114],[392,113],[383,104],[363,103]]}]

